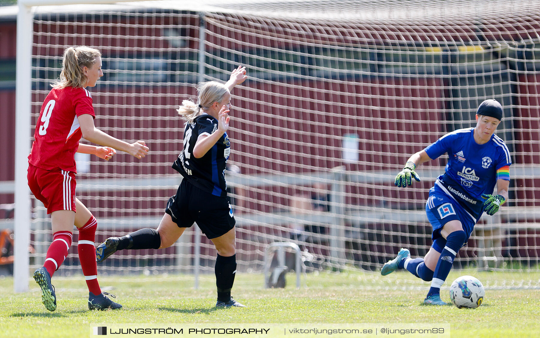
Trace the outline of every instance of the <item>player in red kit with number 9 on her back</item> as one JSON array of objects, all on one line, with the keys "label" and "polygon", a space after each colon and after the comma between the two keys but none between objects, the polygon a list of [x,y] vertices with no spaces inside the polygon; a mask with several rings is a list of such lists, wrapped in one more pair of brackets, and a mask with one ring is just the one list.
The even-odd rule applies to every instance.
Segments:
[{"label": "player in red kit with number 9 on her back", "polygon": [[[42,268],[33,278],[42,289],[42,300],[49,311],[56,309],[55,289],[51,276],[68,255],[73,225],[79,229],[78,254],[89,289],[90,309],[118,309],[119,305],[105,296],[97,280],[94,236],[97,222],[90,211],[75,197],[75,153],[95,154],[109,160],[116,150],[140,159],[149,148],[144,141],[125,143],[96,129],[92,96],[86,87],[93,87],[103,76],[101,53],[86,46],[64,51],[60,81],[53,84],[45,98],[36,123],[35,141],[28,157],[28,185],[35,197],[51,214],[53,241]],[[79,145],[81,137],[102,145]],[[110,295],[110,294],[109,294]]]}]

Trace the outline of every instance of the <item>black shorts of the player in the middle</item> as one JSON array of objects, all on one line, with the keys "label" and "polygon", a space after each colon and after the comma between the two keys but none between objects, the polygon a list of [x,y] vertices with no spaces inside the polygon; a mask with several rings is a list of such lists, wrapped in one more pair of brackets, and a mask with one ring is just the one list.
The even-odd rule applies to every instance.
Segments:
[{"label": "black shorts of the player in the middle", "polygon": [[236,221],[227,197],[212,195],[183,179],[176,195],[167,201],[165,212],[178,227],[189,228],[193,222],[208,239],[229,232]]}]

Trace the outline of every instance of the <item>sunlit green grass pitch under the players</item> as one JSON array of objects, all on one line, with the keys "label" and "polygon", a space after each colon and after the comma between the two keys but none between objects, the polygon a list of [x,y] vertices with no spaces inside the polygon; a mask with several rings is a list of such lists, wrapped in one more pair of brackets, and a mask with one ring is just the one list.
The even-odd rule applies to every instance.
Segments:
[{"label": "sunlit green grass pitch under the players", "polygon": [[[453,271],[442,289],[449,301],[449,283],[464,274],[481,281],[540,280],[540,273]],[[31,280],[29,293],[14,293],[11,278],[0,279],[0,336],[89,336],[91,323],[450,323],[452,337],[538,337],[540,289],[488,289],[478,309],[421,305],[429,283],[408,288],[409,274],[308,273],[302,288],[287,276],[285,289],[265,289],[260,274],[239,273],[235,299],[247,308],[217,309],[215,281],[205,274],[197,290],[192,275],[107,276],[102,287],[116,294],[124,308],[90,311],[82,278],[53,278],[58,308],[51,313],[40,302]],[[499,284],[501,285],[501,284]],[[397,288],[396,288],[397,287]],[[408,288],[408,289],[406,289]],[[319,335],[321,336],[321,335]]]}]

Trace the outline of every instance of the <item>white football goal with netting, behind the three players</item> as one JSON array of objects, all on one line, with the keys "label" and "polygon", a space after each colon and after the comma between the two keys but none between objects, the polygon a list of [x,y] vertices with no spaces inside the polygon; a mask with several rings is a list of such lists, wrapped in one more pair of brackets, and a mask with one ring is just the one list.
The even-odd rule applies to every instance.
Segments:
[{"label": "white football goal with netting, behind the three players", "polygon": [[[28,290],[29,271],[43,263],[51,240],[50,218],[26,185],[26,156],[70,45],[103,54],[105,76],[91,89],[96,125],[118,138],[145,140],[151,151],[141,161],[125,154],[110,163],[77,158],[77,197],[98,220],[96,243],[157,227],[181,180],[171,168],[183,140],[176,107],[196,94],[198,82],[226,81],[241,64],[249,79],[232,92],[226,173],[239,272],[298,270],[291,249],[298,247],[307,278],[354,271],[368,275],[374,288],[395,287],[378,271],[401,247],[426,254],[424,206],[446,158],[421,166],[422,181],[408,190],[393,185],[395,175],[410,154],[473,126],[478,104],[495,98],[504,107],[497,135],[514,163],[510,199],[495,217],[482,218],[454,268],[515,272],[511,280],[483,281],[488,288],[540,287],[536,2],[22,0],[18,6],[16,292]],[[283,242],[292,245],[276,245]],[[266,256],[268,248],[285,253]],[[192,273],[197,287],[214,260],[211,242],[194,226],[171,248],[118,252],[98,273]],[[58,275],[79,270],[73,246]],[[408,278],[399,287],[421,283]]]}]

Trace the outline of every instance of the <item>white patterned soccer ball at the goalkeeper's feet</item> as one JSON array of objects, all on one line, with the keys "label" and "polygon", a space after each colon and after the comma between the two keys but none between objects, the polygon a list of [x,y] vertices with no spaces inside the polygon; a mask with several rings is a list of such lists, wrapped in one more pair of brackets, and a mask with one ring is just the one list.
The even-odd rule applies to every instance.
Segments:
[{"label": "white patterned soccer ball at the goalkeeper's feet", "polygon": [[450,286],[450,299],[458,309],[476,309],[482,304],[484,296],[484,286],[473,276],[461,276]]}]

